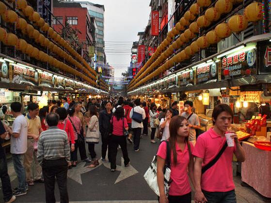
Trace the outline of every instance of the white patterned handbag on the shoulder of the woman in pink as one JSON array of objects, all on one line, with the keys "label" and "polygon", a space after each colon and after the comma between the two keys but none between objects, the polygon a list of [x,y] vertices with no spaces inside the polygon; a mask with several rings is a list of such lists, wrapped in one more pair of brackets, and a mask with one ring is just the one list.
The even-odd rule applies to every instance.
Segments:
[{"label": "white patterned handbag on the shoulder of the woman in pink", "polygon": [[[166,141],[166,143],[167,143],[167,157],[166,157],[166,164],[164,166],[164,189],[165,189],[166,196],[168,196],[169,187],[172,180],[170,179],[170,173],[171,173],[170,147],[169,147],[168,141]],[[149,185],[149,187],[155,192],[155,194],[160,196],[158,182],[157,182],[157,155],[154,156],[150,167],[144,174],[144,178],[147,184]]]}]

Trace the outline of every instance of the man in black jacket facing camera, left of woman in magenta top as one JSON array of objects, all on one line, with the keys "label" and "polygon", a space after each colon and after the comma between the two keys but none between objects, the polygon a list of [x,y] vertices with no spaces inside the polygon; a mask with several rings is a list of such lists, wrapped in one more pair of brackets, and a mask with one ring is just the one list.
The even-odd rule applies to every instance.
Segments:
[{"label": "man in black jacket facing camera, left of woman in magenta top", "polygon": [[[102,110],[99,115],[99,129],[102,136],[102,161],[106,161],[106,151],[109,143],[109,126],[112,117],[112,102],[105,102],[105,110]],[[110,155],[108,152],[108,160],[110,161]]]}]

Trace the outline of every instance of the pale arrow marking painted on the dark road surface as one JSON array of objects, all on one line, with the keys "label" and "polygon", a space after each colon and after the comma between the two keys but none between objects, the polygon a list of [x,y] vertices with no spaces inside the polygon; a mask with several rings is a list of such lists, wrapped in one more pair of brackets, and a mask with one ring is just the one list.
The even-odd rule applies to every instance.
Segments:
[{"label": "pale arrow marking painted on the dark road surface", "polygon": [[[106,168],[110,169],[109,162],[103,162],[100,159],[99,163],[100,164],[98,166],[96,166],[95,168],[87,168],[85,166],[85,162],[81,162],[77,165],[76,168],[72,168],[72,169],[68,170],[68,177],[82,185],[81,174],[86,173],[86,172],[90,172],[90,171],[98,168],[101,165],[104,165]],[[117,165],[116,171],[120,171],[120,174],[114,184],[138,173],[138,171],[134,167],[132,167],[131,165],[129,165],[128,167],[124,167],[123,157],[121,157],[121,166]]]}]

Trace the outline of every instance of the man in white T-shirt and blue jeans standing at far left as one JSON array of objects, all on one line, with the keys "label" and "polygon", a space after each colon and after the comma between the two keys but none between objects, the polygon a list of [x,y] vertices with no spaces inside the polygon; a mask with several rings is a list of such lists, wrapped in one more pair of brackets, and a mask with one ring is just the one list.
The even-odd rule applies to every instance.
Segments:
[{"label": "man in white T-shirt and blue jeans standing at far left", "polygon": [[13,193],[15,196],[27,194],[27,182],[24,169],[24,154],[27,151],[27,121],[21,113],[22,105],[19,102],[13,102],[11,105],[11,113],[16,119],[13,122],[12,130],[8,128],[11,135],[10,153],[13,158],[14,170],[17,174],[18,187]]}]

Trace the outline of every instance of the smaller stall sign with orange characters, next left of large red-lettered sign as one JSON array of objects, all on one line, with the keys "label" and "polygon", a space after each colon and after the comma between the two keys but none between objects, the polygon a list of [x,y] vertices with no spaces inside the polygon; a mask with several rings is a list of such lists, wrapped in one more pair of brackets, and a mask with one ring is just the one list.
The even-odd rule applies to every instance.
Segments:
[{"label": "smaller stall sign with orange characters, next left of large red-lettered sign", "polygon": [[217,78],[217,65],[212,63],[210,65],[198,67],[196,70],[196,83],[205,83],[210,79]]}]

